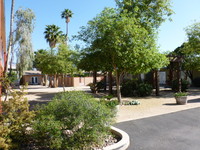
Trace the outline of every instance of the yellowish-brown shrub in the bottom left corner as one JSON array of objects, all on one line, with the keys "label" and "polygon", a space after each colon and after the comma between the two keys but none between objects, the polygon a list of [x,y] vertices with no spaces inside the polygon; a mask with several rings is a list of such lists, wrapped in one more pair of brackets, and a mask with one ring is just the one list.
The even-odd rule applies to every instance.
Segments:
[{"label": "yellowish-brown shrub in the bottom left corner", "polygon": [[24,88],[20,91],[10,90],[11,98],[2,103],[0,114],[0,149],[19,149],[29,142],[27,127],[31,126],[34,112],[29,111]]}]

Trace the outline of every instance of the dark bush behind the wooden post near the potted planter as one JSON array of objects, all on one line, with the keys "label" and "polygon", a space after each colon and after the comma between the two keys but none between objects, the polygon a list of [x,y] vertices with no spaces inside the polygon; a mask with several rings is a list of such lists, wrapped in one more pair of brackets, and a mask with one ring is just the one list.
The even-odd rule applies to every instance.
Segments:
[{"label": "dark bush behind the wooden post near the potted planter", "polygon": [[[178,80],[173,80],[172,82],[172,90],[177,92],[178,91]],[[181,79],[181,91],[186,92],[189,88],[189,81]]]}]

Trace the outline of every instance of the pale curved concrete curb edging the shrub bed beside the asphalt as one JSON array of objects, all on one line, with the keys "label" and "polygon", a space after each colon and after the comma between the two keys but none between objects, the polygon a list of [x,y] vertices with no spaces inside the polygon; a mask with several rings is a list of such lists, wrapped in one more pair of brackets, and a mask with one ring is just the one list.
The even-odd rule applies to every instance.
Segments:
[{"label": "pale curved concrete curb edging the shrub bed beside the asphalt", "polygon": [[113,126],[111,126],[111,132],[119,137],[121,137],[121,140],[117,142],[116,144],[104,147],[103,150],[126,150],[130,145],[130,138],[129,135]]}]

